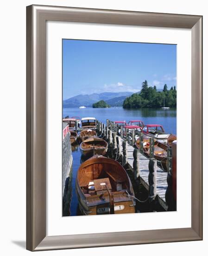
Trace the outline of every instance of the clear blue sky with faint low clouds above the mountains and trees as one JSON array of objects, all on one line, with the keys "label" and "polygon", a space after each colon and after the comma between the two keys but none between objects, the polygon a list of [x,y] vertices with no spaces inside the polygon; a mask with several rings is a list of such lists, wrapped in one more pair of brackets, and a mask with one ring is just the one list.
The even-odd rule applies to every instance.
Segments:
[{"label": "clear blue sky with faint low clouds above the mountains and trees", "polygon": [[176,45],[63,40],[63,100],[78,94],[138,92],[176,85]]}]

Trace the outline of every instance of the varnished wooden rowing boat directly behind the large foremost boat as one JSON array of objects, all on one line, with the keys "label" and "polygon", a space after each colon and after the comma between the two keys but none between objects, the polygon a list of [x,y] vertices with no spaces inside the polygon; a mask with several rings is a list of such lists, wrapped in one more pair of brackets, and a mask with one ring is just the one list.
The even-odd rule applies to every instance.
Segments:
[{"label": "varnished wooden rowing boat directly behind the large foremost boat", "polygon": [[85,157],[90,157],[96,154],[105,155],[107,148],[107,142],[97,137],[90,137],[80,144],[80,151]]}]

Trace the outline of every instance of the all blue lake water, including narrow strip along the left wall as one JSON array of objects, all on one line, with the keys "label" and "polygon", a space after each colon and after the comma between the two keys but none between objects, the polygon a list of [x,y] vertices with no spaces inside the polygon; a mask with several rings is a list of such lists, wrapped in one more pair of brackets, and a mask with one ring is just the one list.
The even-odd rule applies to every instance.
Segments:
[{"label": "all blue lake water, including narrow strip along the left wall", "polygon": [[[145,124],[160,124],[168,133],[176,135],[176,108],[141,108],[123,109],[119,108],[63,108],[63,117],[69,115],[82,117],[95,117],[106,124],[106,119],[111,121],[142,120]],[[81,152],[77,147],[72,147],[73,164],[70,186],[72,188],[70,199],[70,216],[79,215],[77,211],[78,199],[76,195],[76,174],[81,164]]]}]

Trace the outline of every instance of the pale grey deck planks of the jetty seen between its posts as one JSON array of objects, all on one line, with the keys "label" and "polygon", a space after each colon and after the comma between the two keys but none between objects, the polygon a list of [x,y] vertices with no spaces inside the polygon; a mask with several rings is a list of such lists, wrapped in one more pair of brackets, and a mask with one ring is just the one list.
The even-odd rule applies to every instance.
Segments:
[{"label": "pale grey deck planks of the jetty seen between its posts", "polygon": [[[122,139],[121,139],[121,148],[122,148]],[[133,171],[133,150],[134,148],[127,143],[127,162],[129,164],[129,167]],[[139,153],[139,176],[141,179],[142,184],[146,189],[149,189],[149,182],[148,182],[148,175],[149,175],[149,159]],[[165,172],[161,168],[157,168],[157,194],[158,194],[158,200],[161,203],[161,205],[164,207],[164,209],[167,210],[168,206],[165,202],[165,192],[168,187],[167,184],[167,172]]]}]

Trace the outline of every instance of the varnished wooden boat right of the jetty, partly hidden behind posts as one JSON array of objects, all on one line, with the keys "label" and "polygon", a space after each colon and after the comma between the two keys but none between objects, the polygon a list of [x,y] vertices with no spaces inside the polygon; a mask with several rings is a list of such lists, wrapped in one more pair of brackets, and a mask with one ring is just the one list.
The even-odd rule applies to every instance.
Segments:
[{"label": "varnished wooden boat right of the jetty, partly hidden behind posts", "polygon": [[[167,148],[168,145],[171,147],[172,142],[176,140],[176,135],[170,134],[169,137],[167,138],[166,143],[162,143],[160,141],[155,141],[154,144],[154,158],[157,159],[160,162],[161,167],[164,170],[167,170]],[[144,149],[144,155],[147,157],[150,156],[150,138],[148,136],[144,135],[143,139],[143,149]],[[135,143],[137,148],[140,148],[140,140],[138,139]]]}]

